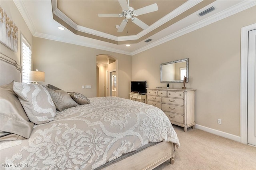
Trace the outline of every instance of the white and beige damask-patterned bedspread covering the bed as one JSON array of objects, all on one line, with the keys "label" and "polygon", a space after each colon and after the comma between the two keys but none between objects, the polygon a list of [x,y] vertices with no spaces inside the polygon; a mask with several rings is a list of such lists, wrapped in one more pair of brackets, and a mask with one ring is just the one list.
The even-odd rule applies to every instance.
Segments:
[{"label": "white and beige damask-patterned bedspread covering the bed", "polygon": [[54,121],[35,125],[28,140],[1,142],[1,169],[3,163],[15,170],[95,169],[148,142],[180,146],[160,109],[118,97],[90,101],[57,111]]}]

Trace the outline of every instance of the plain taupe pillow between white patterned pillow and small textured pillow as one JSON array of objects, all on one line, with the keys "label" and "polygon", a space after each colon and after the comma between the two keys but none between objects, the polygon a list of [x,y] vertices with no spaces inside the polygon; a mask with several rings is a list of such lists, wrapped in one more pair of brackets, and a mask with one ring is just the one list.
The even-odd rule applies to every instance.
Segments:
[{"label": "plain taupe pillow between white patterned pillow and small textured pillow", "polygon": [[63,111],[70,107],[75,107],[78,104],[70,97],[70,95],[64,90],[52,90],[46,88],[50,93],[52,100],[56,106],[56,109]]}]

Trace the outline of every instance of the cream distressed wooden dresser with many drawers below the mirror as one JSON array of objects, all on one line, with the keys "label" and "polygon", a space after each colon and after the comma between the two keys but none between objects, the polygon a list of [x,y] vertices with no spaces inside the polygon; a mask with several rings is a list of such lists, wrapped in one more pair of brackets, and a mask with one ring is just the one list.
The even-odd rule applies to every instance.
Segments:
[{"label": "cream distressed wooden dresser with many drawers below the mirror", "polygon": [[195,91],[194,89],[148,89],[148,104],[162,109],[171,123],[195,128]]}]

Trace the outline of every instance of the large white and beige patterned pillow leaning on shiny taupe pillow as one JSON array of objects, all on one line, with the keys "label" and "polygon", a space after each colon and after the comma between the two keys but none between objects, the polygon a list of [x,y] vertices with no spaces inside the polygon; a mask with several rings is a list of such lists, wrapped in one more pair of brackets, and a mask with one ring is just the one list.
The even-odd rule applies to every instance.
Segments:
[{"label": "large white and beige patterned pillow leaning on shiny taupe pillow", "polygon": [[54,120],[55,105],[42,85],[14,82],[13,90],[31,122],[42,124]]}]

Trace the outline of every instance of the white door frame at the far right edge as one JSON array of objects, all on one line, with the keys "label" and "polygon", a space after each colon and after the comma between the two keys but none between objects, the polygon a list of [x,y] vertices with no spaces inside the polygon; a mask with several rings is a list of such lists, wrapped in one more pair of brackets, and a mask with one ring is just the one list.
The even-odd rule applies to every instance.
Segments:
[{"label": "white door frame at the far right edge", "polygon": [[256,29],[256,23],[241,28],[240,67],[240,142],[248,144],[248,36]]}]

